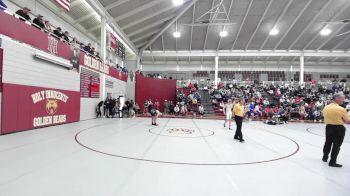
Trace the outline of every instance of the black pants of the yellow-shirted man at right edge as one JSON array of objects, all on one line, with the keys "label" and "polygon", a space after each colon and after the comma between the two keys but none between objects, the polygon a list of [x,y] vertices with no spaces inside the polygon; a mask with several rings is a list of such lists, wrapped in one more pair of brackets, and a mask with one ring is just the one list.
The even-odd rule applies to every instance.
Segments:
[{"label": "black pants of the yellow-shirted man at right edge", "polygon": [[[329,163],[336,163],[345,137],[345,127],[343,125],[327,125],[326,126],[326,142],[323,147],[323,156],[328,157],[331,152],[331,160]],[[332,147],[333,146],[333,147]]]}]

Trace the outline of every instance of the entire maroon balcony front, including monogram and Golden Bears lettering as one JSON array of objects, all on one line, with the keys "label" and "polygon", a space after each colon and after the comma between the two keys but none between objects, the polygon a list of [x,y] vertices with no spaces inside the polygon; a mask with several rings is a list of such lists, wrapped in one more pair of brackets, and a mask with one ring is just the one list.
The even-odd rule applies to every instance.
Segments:
[{"label": "entire maroon balcony front, including monogram and Golden Bears lettering", "polygon": [[[118,71],[100,59],[85,53],[74,44],[70,45],[38,28],[19,20],[17,17],[0,12],[0,34],[13,40],[28,44],[36,49],[56,55],[66,60],[76,60],[80,65],[108,74],[114,78],[127,81],[128,74]],[[77,52],[78,50],[78,52]]]}]

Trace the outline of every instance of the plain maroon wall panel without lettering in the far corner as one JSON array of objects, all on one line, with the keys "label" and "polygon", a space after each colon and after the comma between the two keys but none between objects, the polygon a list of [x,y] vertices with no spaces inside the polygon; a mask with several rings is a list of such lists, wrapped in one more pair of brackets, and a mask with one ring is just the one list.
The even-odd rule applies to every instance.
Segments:
[{"label": "plain maroon wall panel without lettering in the far corner", "polygon": [[175,101],[176,98],[176,80],[165,80],[147,78],[136,74],[135,100],[143,110],[145,100],[152,99],[154,103],[158,99],[160,103],[159,110],[164,111],[164,101]]}]

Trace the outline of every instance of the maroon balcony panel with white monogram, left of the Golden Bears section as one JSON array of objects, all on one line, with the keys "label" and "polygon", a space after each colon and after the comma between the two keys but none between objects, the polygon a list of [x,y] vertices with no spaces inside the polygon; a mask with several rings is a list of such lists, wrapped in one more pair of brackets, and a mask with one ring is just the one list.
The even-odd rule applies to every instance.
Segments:
[{"label": "maroon balcony panel with white monogram, left of the Golden Bears section", "polygon": [[5,12],[0,12],[0,34],[71,60],[70,46]]}]

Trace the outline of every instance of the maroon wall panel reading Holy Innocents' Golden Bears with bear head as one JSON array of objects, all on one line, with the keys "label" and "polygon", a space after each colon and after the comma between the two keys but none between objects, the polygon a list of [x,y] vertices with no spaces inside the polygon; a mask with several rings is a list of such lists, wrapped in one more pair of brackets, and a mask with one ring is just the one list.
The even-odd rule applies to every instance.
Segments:
[{"label": "maroon wall panel reading Holy Innocents' Golden Bears with bear head", "polygon": [[3,84],[2,134],[79,119],[80,92]]}]

